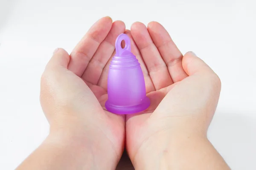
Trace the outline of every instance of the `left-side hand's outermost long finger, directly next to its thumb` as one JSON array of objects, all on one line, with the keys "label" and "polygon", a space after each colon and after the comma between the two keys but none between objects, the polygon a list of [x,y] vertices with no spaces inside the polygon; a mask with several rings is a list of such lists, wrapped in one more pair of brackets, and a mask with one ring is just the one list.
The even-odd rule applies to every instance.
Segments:
[{"label": "left-side hand's outermost long finger, directly next to its thumb", "polygon": [[100,43],[108,35],[111,26],[112,19],[110,17],[103,17],[93,24],[70,54],[68,65],[70,71],[81,77]]}]

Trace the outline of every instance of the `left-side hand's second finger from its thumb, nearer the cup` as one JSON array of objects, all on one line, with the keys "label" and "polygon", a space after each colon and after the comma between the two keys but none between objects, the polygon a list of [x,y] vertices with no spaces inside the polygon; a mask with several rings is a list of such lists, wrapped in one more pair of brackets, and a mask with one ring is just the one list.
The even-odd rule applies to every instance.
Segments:
[{"label": "left-side hand's second finger from its thumb, nearer the cup", "polygon": [[87,68],[82,75],[82,78],[87,82],[96,85],[99,81],[102,70],[110,59],[113,51],[115,50],[116,38],[119,34],[125,32],[125,23],[122,21],[115,21],[109,31],[105,40],[99,45],[96,53],[90,60]]}]

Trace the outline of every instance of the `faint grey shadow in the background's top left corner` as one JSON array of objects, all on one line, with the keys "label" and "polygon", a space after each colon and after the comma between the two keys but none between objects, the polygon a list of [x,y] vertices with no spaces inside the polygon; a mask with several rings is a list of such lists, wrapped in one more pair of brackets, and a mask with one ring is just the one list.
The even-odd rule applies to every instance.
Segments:
[{"label": "faint grey shadow in the background's top left corner", "polygon": [[0,0],[0,31],[9,19],[15,1],[16,0]]}]

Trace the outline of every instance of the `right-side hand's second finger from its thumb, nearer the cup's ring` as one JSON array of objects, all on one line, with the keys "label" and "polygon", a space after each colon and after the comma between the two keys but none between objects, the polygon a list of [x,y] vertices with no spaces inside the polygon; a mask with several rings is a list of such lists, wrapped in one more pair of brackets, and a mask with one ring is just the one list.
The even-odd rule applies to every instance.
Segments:
[{"label": "right-side hand's second finger from its thumb, nearer the cup's ring", "polygon": [[131,26],[131,35],[142,54],[149,75],[156,90],[171,85],[172,79],[157,47],[151,40],[146,26],[143,23],[134,23]]}]

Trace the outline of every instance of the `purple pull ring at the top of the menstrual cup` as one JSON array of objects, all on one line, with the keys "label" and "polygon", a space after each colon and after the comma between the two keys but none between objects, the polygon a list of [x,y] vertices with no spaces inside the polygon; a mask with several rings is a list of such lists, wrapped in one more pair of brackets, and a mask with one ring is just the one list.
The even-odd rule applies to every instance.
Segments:
[{"label": "purple pull ring at the top of the menstrual cup", "polygon": [[[125,40],[125,48],[121,47],[122,40]],[[116,38],[116,55],[121,56],[125,51],[131,52],[131,40],[126,34],[120,34]]]}]

